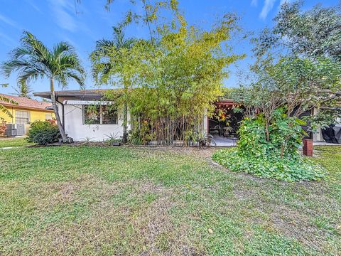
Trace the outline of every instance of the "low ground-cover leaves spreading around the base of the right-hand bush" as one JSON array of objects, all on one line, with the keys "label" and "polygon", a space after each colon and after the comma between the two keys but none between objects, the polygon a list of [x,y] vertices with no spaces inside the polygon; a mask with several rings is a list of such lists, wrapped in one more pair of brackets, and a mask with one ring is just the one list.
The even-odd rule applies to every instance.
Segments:
[{"label": "low ground-cover leaves spreading around the base of the right-hand bush", "polygon": [[239,154],[239,149],[221,149],[213,154],[212,159],[230,171],[244,171],[281,181],[319,181],[325,176],[320,166],[302,156],[264,158]]}]

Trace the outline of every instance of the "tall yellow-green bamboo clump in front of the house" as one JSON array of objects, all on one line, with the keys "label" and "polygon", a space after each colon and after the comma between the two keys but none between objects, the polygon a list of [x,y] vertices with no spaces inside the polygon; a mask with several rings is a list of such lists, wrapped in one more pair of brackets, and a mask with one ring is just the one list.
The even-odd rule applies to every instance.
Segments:
[{"label": "tall yellow-green bamboo clump in front of the house", "polygon": [[[113,2],[107,1],[107,7]],[[92,54],[94,70],[108,71],[100,76],[101,83],[119,82],[131,89],[134,85],[129,91],[129,112],[138,121],[132,126],[137,129],[131,132],[134,141],[150,137],[171,145],[174,140],[184,140],[186,131],[200,129],[203,113],[210,114],[211,102],[221,95],[227,67],[243,57],[234,55],[227,46],[237,31],[237,17],[227,14],[211,30],[204,31],[188,25],[178,1],[141,0],[129,4],[135,6],[127,7],[122,24],[143,23],[150,39],[136,41],[129,50],[111,48],[109,54],[102,54],[106,62],[117,63],[114,67],[107,68],[98,55]],[[141,13],[136,11],[140,8]],[[135,136],[146,120],[148,136]]]}]

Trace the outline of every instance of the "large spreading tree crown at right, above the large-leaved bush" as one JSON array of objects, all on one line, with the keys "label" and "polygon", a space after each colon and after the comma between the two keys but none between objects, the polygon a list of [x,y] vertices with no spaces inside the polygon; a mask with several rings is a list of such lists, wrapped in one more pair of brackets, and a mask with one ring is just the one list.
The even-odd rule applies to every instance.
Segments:
[{"label": "large spreading tree crown at right, above the large-leaved bush", "polygon": [[304,11],[302,5],[303,1],[281,5],[274,27],[254,38],[252,70],[257,75],[276,70],[267,75],[281,90],[290,89],[286,92],[291,97],[284,100],[305,105],[298,107],[300,111],[318,107],[316,119],[331,122],[341,113],[341,3]]}]

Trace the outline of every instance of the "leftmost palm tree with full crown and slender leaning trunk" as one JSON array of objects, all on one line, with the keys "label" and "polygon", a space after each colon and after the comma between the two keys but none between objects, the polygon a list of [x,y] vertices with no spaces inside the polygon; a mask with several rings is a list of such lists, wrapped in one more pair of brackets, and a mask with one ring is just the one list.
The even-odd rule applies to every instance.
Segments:
[{"label": "leftmost palm tree with full crown and slender leaning trunk", "polygon": [[67,136],[58,113],[55,81],[62,88],[67,87],[69,80],[75,80],[80,87],[84,85],[85,70],[80,64],[75,48],[69,43],[60,42],[50,50],[32,33],[24,31],[21,37],[21,47],[12,50],[10,55],[10,60],[1,65],[1,70],[6,78],[9,78],[11,73],[17,72],[18,84],[36,81],[38,78],[50,80],[51,102],[60,135],[65,142]]}]

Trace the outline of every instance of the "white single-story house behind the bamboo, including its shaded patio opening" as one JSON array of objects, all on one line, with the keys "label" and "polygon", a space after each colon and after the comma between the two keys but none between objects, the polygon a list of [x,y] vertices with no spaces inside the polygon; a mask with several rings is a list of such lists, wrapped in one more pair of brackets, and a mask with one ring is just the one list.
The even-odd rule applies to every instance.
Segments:
[{"label": "white single-story house behind the bamboo, including its shaded patio opening", "polygon": [[[102,101],[103,93],[104,90],[64,90],[55,92],[65,132],[75,142],[83,141],[86,138],[92,139],[92,141],[103,141],[111,135],[116,137],[123,135],[122,110],[108,107],[112,102]],[[34,95],[50,99],[50,92],[36,92]],[[219,137],[225,137],[226,134],[234,137],[238,123],[242,120],[242,114],[236,114],[232,111],[232,108],[237,104],[233,100],[219,100],[215,105],[217,108],[224,109],[224,114],[228,115],[231,120],[229,128],[226,127],[226,122],[222,122],[217,117],[209,119],[205,114],[203,115],[202,126],[207,133]],[[92,112],[91,108],[94,106],[96,106],[97,110]],[[129,119],[130,115],[128,113],[128,130],[130,129]],[[314,141],[323,141],[320,132],[313,134],[313,139]]]}]

